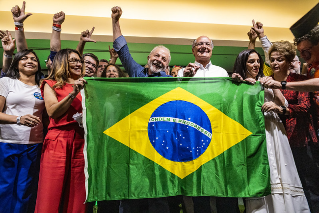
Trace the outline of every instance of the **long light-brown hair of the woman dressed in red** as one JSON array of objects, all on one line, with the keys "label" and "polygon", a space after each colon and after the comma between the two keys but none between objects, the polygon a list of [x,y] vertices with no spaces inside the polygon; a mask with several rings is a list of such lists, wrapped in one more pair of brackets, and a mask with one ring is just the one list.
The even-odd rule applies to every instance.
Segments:
[{"label": "long light-brown hair of the woman dressed in red", "polygon": [[[80,59],[83,59],[77,50],[72,50],[72,49],[60,50],[54,56],[50,76],[44,79],[44,80],[56,81],[56,83],[53,85],[53,89],[63,87],[66,84],[68,78],[71,78],[70,71],[69,71],[69,61],[68,61],[69,55],[71,53],[77,53]],[[83,64],[81,68],[81,75],[79,78],[84,77],[84,75],[85,75],[85,65]]]}]

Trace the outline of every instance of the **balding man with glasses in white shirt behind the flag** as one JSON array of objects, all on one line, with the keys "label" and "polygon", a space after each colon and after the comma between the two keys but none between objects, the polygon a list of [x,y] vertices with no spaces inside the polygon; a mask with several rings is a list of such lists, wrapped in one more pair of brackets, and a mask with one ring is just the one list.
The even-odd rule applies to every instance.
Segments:
[{"label": "balding man with glasses in white shirt behind the flag", "polygon": [[212,64],[213,47],[213,41],[207,36],[195,39],[191,47],[195,62],[181,69],[177,77],[229,77],[225,69]]}]

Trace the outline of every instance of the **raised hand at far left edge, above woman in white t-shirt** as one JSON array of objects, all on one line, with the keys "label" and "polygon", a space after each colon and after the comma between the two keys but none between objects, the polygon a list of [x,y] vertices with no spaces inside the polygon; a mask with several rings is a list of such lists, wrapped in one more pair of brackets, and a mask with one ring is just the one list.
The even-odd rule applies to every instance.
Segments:
[{"label": "raised hand at far left edge, above woman in white t-shirt", "polygon": [[13,59],[13,52],[16,48],[16,39],[12,39],[11,33],[7,34],[0,30],[0,38],[3,48],[2,73],[7,73]]}]

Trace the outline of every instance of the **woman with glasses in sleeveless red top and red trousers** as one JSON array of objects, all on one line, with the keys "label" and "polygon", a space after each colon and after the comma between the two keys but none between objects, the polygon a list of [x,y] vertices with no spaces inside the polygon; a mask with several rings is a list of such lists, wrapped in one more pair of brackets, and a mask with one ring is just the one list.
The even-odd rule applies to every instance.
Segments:
[{"label": "woman with glasses in sleeveless red top and red trousers", "polygon": [[76,50],[56,53],[51,74],[41,84],[50,117],[44,140],[36,213],[85,213],[84,130],[73,115],[82,113],[83,58]]}]

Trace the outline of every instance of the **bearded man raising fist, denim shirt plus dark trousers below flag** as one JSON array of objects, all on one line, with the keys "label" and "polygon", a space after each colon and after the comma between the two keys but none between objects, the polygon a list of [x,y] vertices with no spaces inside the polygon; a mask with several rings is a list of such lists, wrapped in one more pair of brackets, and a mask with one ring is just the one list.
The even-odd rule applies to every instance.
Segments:
[{"label": "bearded man raising fist, denim shirt plus dark trousers below flag", "polygon": [[[119,19],[122,15],[121,7],[112,8],[113,48],[118,53],[123,67],[130,77],[172,77],[165,73],[171,60],[170,51],[160,45],[155,47],[147,56],[148,68],[136,63],[132,58],[127,42],[121,33]],[[136,141],[139,142],[139,141]],[[120,201],[119,213],[169,213],[167,197],[124,199]]]}]

